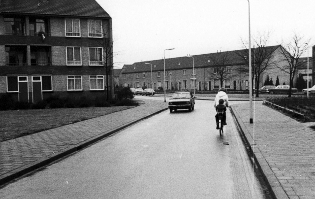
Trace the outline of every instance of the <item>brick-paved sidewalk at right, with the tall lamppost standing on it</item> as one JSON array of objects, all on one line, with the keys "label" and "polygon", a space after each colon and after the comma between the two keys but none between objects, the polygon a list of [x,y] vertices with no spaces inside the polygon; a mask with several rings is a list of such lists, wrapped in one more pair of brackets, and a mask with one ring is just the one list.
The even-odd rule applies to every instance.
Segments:
[{"label": "brick-paved sidewalk at right, with the tall lamppost standing on it", "polygon": [[[277,199],[315,199],[315,131],[261,101],[232,106]],[[253,140],[254,138],[254,140]]]}]

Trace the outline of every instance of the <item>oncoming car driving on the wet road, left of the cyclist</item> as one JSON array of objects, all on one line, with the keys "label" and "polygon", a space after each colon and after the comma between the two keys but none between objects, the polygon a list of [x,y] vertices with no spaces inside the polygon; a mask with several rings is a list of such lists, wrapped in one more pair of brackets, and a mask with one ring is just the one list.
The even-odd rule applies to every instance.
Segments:
[{"label": "oncoming car driving on the wet road, left of the cyclist", "polygon": [[170,112],[177,109],[193,110],[195,107],[195,97],[189,92],[174,93],[168,102]]}]

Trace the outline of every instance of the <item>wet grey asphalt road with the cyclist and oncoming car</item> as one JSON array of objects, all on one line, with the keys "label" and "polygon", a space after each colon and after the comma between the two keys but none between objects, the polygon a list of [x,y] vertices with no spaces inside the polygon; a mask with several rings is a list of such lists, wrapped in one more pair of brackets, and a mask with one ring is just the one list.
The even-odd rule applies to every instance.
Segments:
[{"label": "wet grey asphalt road with the cyclist and oncoming car", "polygon": [[220,136],[214,115],[213,101],[203,100],[191,112],[164,111],[18,179],[1,196],[267,199],[232,116]]}]

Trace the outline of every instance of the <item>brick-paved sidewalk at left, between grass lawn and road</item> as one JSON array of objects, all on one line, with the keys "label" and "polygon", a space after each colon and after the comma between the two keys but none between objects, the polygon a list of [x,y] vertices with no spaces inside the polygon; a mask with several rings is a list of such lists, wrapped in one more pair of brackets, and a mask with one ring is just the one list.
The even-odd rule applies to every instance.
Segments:
[{"label": "brick-paved sidewalk at left, between grass lawn and road", "polygon": [[162,100],[141,100],[134,108],[0,142],[0,185],[167,108]]}]

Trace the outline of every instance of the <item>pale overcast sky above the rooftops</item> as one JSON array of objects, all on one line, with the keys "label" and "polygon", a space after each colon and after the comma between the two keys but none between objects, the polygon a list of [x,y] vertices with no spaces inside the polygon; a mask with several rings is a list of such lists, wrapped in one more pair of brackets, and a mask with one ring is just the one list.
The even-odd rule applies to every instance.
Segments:
[{"label": "pale overcast sky above the rooftops", "polygon": [[[244,49],[241,37],[248,42],[248,0],[96,1],[112,17],[115,68],[162,59],[168,48],[175,49],[165,58]],[[270,30],[268,45],[278,45],[295,31],[315,44],[315,0],[250,4],[252,38]]]}]

